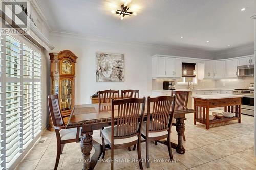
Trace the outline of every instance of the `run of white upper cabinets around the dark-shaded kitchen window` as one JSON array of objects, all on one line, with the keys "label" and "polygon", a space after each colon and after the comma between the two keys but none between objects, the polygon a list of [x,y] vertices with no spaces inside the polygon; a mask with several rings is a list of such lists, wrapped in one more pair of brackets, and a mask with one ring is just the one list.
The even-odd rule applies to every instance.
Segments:
[{"label": "run of white upper cabinets around the dark-shaded kitchen window", "polygon": [[238,78],[238,66],[254,65],[254,55],[225,60],[155,55],[152,57],[153,78],[181,78],[182,62],[195,63],[198,79]]}]

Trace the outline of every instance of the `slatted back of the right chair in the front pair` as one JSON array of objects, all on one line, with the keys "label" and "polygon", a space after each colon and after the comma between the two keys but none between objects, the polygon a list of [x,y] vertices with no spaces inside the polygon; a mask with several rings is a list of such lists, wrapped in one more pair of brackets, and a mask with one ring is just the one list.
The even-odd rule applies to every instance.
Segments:
[{"label": "slatted back of the right chair in the front pair", "polygon": [[[174,96],[159,96],[157,98],[147,99],[147,130],[164,131],[170,128],[170,122],[173,119]],[[168,117],[170,120],[168,121]]]}]

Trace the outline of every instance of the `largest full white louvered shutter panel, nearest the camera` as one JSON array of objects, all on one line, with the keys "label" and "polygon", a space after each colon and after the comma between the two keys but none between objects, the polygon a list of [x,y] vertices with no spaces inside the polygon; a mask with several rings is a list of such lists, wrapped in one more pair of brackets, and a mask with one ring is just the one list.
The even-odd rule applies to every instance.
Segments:
[{"label": "largest full white louvered shutter panel, nearest the camera", "polygon": [[22,88],[20,87],[20,41],[6,35],[6,164],[15,161],[22,151]]}]

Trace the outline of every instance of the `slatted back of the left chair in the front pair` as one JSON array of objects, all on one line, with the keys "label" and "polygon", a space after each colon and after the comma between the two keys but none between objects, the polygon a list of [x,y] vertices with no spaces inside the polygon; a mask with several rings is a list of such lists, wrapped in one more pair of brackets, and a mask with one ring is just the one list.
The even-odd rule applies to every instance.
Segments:
[{"label": "slatted back of the left chair in the front pair", "polygon": [[114,129],[115,125],[114,118],[117,117],[116,131],[113,132],[113,138],[122,138],[138,134],[140,131],[138,127],[144,117],[144,105],[145,98],[112,100],[112,129]]}]

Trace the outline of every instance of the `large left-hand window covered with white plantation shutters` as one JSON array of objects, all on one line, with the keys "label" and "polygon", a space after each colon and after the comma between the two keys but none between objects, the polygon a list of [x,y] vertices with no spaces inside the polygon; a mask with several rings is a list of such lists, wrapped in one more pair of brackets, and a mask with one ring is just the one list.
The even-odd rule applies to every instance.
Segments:
[{"label": "large left-hand window covered with white plantation shutters", "polygon": [[8,169],[41,132],[41,50],[23,36],[0,42],[0,169]]}]

